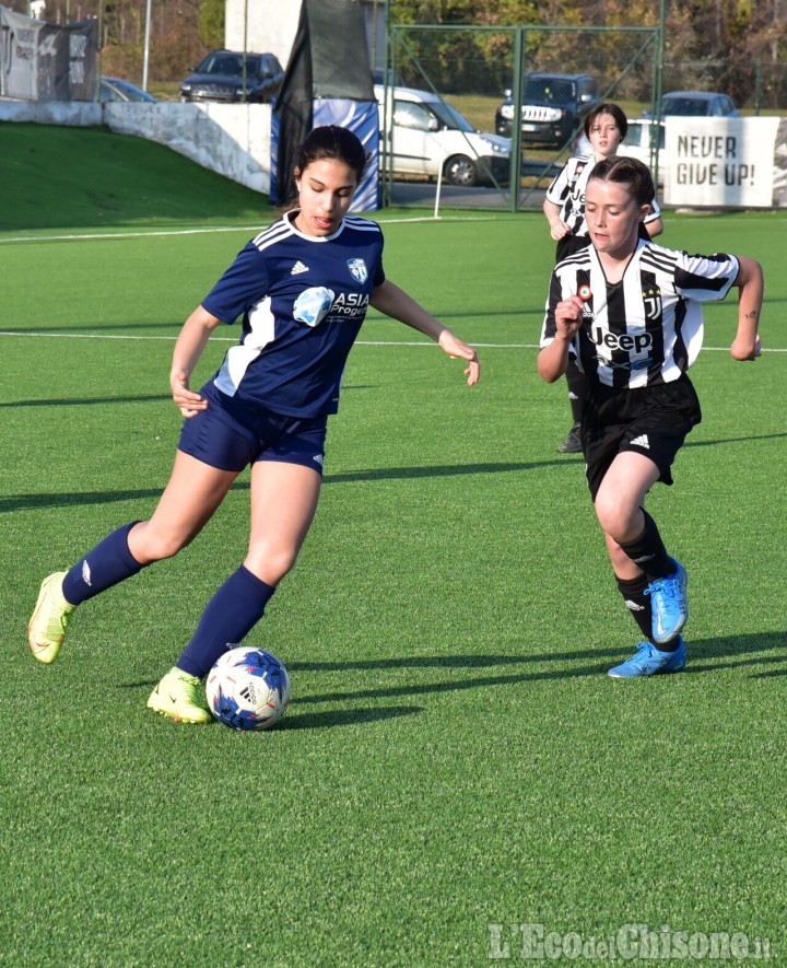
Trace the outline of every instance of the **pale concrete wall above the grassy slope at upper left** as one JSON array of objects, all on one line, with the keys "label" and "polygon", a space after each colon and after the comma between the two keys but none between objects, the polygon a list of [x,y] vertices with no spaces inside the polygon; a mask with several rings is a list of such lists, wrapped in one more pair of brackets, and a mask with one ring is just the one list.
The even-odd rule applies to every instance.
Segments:
[{"label": "pale concrete wall above the grassy slope at upper left", "polygon": [[157,141],[255,191],[270,190],[269,104],[91,104],[0,102],[0,121],[106,125],[119,135]]}]

